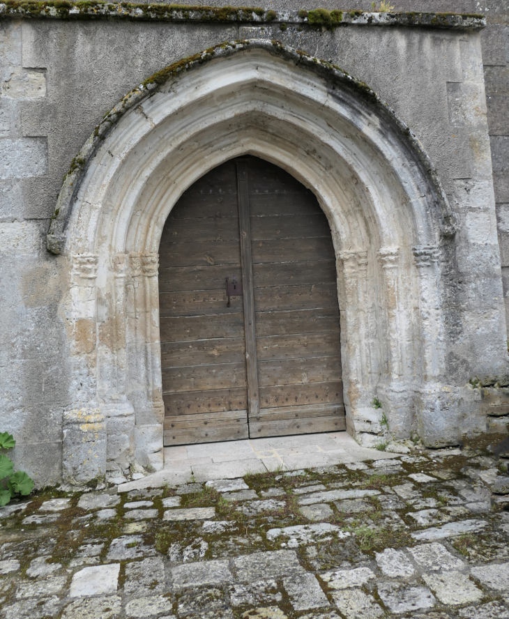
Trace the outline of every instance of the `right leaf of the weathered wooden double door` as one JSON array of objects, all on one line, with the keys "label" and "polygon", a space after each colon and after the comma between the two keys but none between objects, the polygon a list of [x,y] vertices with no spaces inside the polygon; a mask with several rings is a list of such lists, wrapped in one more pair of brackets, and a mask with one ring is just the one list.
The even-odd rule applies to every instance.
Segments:
[{"label": "right leaf of the weathered wooden double door", "polygon": [[[344,429],[340,310],[326,216],[284,170],[252,158],[248,176],[260,406],[250,437]],[[296,338],[291,353],[280,346],[290,337]],[[319,355],[307,345],[315,337],[324,338]]]}]

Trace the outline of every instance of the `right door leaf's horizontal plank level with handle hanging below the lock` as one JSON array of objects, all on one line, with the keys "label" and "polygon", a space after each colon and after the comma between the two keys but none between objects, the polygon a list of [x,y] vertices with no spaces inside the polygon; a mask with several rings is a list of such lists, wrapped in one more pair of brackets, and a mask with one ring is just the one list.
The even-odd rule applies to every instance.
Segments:
[{"label": "right door leaf's horizontal plank level with handle hanging below the lock", "polygon": [[318,310],[337,307],[336,284],[271,286],[254,289],[254,311]]}]

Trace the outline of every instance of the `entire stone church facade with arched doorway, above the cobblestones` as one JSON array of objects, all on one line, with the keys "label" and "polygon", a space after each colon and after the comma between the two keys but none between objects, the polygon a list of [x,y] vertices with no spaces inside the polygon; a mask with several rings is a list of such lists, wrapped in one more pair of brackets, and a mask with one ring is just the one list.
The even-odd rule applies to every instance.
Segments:
[{"label": "entire stone church facade with arched doorway, above the cobblestones", "polygon": [[[172,439],[340,427],[441,447],[504,427],[507,7],[351,4],[0,4],[0,431],[39,486],[158,471]],[[250,194],[260,161],[275,176]],[[300,230],[286,245],[259,231],[261,194]],[[211,196],[210,221],[186,215]],[[233,267],[199,256],[223,241],[240,252],[237,322],[219,290]],[[288,359],[264,352],[276,339]]]}]

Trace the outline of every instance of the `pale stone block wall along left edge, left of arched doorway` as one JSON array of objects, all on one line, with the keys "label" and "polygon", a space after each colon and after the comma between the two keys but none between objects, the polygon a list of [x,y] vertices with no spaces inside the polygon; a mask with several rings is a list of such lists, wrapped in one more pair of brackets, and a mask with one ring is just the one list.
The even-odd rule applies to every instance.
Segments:
[{"label": "pale stone block wall along left edge, left of arched doorway", "polygon": [[[24,112],[47,95],[44,68],[23,61],[21,22],[0,29],[0,427],[17,444],[38,486],[61,479],[68,369],[58,304],[60,265],[45,250],[47,208],[38,191],[49,172],[47,130],[24,127]],[[40,188],[40,185],[39,185]],[[27,197],[36,190],[33,207]]]}]

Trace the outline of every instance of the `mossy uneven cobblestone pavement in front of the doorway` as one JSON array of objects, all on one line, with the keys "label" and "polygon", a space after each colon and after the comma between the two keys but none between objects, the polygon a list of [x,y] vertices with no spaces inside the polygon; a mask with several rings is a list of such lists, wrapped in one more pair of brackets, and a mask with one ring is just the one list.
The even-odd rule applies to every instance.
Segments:
[{"label": "mossy uneven cobblestone pavement in front of the doorway", "polygon": [[487,452],[0,509],[6,619],[509,619],[509,475]]}]

